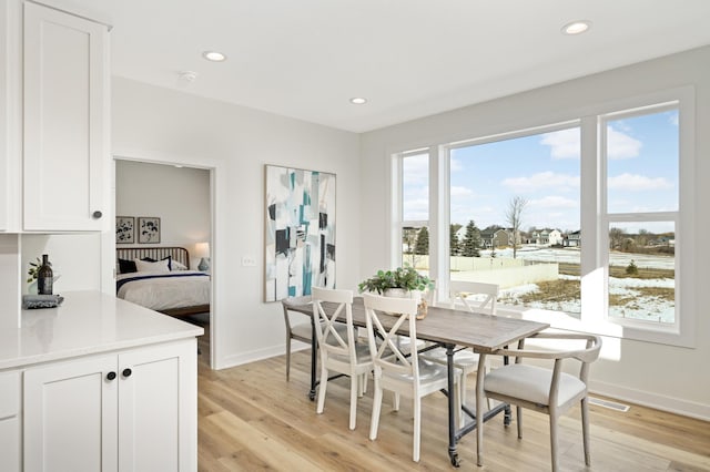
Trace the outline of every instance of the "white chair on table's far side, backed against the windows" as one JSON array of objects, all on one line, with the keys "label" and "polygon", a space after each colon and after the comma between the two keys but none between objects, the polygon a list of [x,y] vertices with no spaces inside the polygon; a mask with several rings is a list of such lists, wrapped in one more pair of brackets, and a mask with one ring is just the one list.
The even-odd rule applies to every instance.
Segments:
[{"label": "white chair on table's far side, backed against the windows", "polygon": [[[498,285],[480,281],[450,280],[449,308],[463,308],[466,311],[483,315],[496,315]],[[438,363],[447,363],[446,349],[437,348],[422,353],[422,357]],[[470,349],[454,352],[454,367],[460,369],[459,380],[462,403],[466,404],[466,379],[478,369],[478,355]],[[485,369],[485,366],[484,366]],[[490,409],[490,402],[487,402]],[[464,422],[464,411],[459,410],[459,424]]]}]

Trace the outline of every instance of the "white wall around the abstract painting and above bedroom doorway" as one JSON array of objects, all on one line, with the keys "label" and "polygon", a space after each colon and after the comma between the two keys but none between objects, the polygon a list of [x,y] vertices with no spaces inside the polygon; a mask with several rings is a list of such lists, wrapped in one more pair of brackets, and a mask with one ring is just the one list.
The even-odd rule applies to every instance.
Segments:
[{"label": "white wall around the abstract painting and above bedroom doorway", "polygon": [[[337,175],[337,286],[355,288],[358,135],[121,78],[112,86],[114,155],[214,168],[214,365],[283,355],[281,305],[263,302],[264,165]],[[243,256],[256,267],[242,267]]]}]

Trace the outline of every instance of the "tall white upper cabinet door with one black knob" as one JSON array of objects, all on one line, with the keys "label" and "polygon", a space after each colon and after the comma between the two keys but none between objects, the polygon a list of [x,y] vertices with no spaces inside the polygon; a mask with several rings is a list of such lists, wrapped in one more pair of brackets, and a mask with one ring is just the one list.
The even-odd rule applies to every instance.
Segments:
[{"label": "tall white upper cabinet door with one black knob", "polygon": [[26,230],[110,229],[105,25],[24,3]]}]

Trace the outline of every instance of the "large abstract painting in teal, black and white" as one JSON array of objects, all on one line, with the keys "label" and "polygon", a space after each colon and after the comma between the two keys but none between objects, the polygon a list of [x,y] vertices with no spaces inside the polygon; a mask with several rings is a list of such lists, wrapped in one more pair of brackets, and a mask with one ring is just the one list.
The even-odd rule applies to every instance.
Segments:
[{"label": "large abstract painting in teal, black and white", "polygon": [[335,288],[335,174],[265,166],[264,299]]}]

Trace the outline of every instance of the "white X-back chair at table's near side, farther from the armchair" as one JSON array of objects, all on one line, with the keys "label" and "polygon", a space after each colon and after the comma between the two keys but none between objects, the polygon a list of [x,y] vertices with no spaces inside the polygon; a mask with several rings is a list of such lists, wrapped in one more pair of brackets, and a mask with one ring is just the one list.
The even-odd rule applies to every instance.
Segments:
[{"label": "white X-back chair at table's near side, farther from the armchair", "polygon": [[[357,342],[357,328],[353,326],[353,291],[313,287],[312,294],[313,317],[320,321],[315,325],[321,352],[321,384],[316,412],[323,413],[331,372],[349,376],[349,429],[354,430],[357,418],[357,398],[365,392],[367,376],[373,370],[373,361],[369,346],[366,342]],[[325,302],[336,305],[335,309],[329,314],[326,312],[323,307]],[[342,326],[346,327],[345,332],[343,332]]]}]

